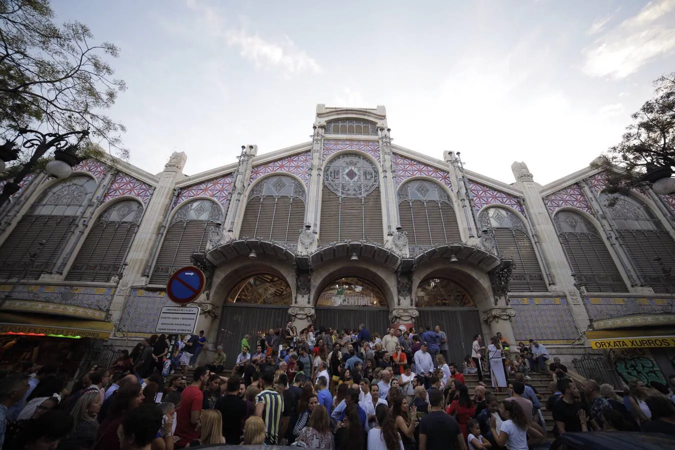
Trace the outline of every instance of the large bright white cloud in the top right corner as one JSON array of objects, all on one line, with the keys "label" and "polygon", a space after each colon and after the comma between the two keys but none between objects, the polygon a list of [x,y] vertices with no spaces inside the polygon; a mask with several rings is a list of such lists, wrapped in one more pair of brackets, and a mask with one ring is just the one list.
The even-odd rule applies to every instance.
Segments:
[{"label": "large bright white cloud in the top right corner", "polygon": [[675,0],[647,3],[637,15],[600,36],[584,49],[584,72],[626,78],[645,63],[675,51]]}]

